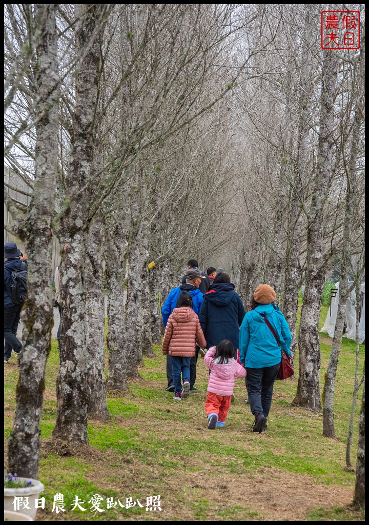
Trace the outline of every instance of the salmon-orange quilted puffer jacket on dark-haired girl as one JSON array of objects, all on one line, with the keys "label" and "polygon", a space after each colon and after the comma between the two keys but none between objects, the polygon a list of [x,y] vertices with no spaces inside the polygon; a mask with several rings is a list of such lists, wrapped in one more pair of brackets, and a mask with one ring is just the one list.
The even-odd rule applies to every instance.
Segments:
[{"label": "salmon-orange quilted puffer jacket on dark-haired girl", "polygon": [[191,358],[195,343],[206,346],[200,321],[192,308],[174,308],[166,323],[162,352],[176,357]]}]

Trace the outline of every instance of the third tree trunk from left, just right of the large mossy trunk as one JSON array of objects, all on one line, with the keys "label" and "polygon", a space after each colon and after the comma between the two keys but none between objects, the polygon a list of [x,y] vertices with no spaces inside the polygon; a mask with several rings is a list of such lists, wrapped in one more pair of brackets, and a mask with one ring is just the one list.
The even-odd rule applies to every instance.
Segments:
[{"label": "third tree trunk from left, just right of the large mossy trunk", "polygon": [[87,383],[90,399],[88,413],[92,419],[107,421],[110,414],[105,386],[104,327],[105,307],[102,287],[103,231],[99,217],[95,217],[87,237],[86,288],[86,344],[89,353]]}]

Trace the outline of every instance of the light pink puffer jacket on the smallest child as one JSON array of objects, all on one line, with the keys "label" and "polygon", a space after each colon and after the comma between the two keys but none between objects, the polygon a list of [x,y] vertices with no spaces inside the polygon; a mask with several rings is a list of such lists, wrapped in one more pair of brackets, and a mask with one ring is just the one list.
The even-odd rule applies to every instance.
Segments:
[{"label": "light pink puffer jacket on the smallest child", "polygon": [[219,395],[232,395],[235,386],[235,376],[246,377],[246,370],[237,361],[228,364],[214,364],[215,353],[216,348],[212,346],[204,357],[204,362],[210,369],[207,391]]}]

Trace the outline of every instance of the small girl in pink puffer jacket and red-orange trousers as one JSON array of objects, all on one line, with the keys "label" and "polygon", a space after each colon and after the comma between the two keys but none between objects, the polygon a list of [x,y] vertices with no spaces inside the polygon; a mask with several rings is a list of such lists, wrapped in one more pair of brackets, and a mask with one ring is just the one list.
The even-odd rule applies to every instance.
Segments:
[{"label": "small girl in pink puffer jacket and red-orange trousers", "polygon": [[212,346],[204,356],[210,370],[205,411],[208,428],[223,427],[232,399],[235,377],[246,377],[246,370],[234,358],[235,349],[231,341],[224,339]]}]

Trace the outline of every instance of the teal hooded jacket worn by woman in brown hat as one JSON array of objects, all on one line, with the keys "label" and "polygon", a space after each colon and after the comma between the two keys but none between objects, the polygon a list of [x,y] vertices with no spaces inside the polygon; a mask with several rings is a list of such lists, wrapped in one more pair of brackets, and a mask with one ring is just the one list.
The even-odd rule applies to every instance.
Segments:
[{"label": "teal hooded jacket worn by woman in brown hat", "polygon": [[[261,313],[272,325],[281,344],[265,322]],[[292,336],[282,312],[273,303],[259,304],[246,313],[239,334],[240,362],[249,368],[265,368],[281,362],[281,350],[290,355]]]}]

